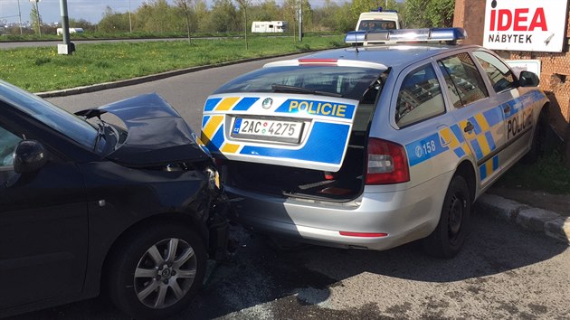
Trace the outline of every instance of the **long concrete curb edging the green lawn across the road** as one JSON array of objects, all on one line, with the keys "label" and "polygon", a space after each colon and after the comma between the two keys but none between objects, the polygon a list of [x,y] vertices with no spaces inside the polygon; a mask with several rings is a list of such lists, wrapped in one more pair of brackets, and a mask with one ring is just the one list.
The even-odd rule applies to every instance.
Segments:
[{"label": "long concrete curb edging the green lawn across the road", "polygon": [[150,81],[155,81],[155,80],[162,80],[162,79],[178,76],[178,75],[185,74],[185,73],[203,71],[206,69],[229,66],[229,65],[238,64],[238,63],[260,61],[260,60],[266,60],[266,59],[271,59],[271,58],[279,58],[279,57],[287,57],[290,55],[309,54],[310,52],[318,52],[318,51],[320,51],[320,50],[311,50],[311,51],[307,51],[307,52],[286,53],[286,54],[280,54],[280,55],[275,55],[275,56],[271,56],[271,57],[248,58],[248,59],[242,59],[242,60],[237,60],[237,61],[227,61],[227,62],[220,62],[220,63],[216,63],[216,64],[207,64],[204,66],[191,67],[191,68],[180,69],[180,70],[176,70],[176,71],[166,71],[166,72],[162,72],[162,73],[151,74],[148,76],[143,76],[143,77],[138,77],[138,78],[133,78],[133,79],[127,79],[127,80],[103,82],[103,83],[98,83],[98,84],[94,84],[94,85],[90,85],[90,86],[76,87],[76,88],[71,88],[71,89],[61,89],[61,90],[54,90],[54,91],[37,92],[37,93],[35,93],[35,95],[38,97],[42,97],[42,98],[65,97],[65,96],[71,96],[71,95],[75,95],[75,94],[100,91],[100,90],[104,90],[104,89],[115,89],[115,88],[120,88],[120,87],[127,87],[127,86],[132,86],[135,84],[140,84],[140,83],[145,83],[145,82],[150,82]]}]

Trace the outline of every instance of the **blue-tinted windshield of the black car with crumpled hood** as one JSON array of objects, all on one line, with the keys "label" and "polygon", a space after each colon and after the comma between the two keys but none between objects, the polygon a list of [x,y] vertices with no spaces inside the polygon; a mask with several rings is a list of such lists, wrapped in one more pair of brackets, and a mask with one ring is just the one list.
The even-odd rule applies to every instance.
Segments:
[{"label": "blue-tinted windshield of the black car with crumpled hood", "polygon": [[94,147],[97,129],[70,112],[2,80],[0,80],[0,99],[46,126],[68,136],[81,146],[90,149]]}]

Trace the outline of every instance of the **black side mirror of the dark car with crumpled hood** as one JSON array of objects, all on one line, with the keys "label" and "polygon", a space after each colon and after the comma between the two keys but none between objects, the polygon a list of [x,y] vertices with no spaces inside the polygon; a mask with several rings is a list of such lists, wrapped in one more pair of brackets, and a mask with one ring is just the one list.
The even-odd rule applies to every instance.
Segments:
[{"label": "black side mirror of the dark car with crumpled hood", "polygon": [[16,146],[14,153],[14,171],[29,174],[39,170],[47,163],[46,151],[36,140],[23,140]]}]

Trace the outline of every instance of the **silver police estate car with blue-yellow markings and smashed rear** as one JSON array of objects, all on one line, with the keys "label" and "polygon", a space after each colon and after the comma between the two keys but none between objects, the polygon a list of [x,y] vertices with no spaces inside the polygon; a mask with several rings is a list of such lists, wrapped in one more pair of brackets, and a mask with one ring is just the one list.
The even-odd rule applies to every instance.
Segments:
[{"label": "silver police estate car with blue-yellow markings and smashed rear", "polygon": [[[238,221],[333,247],[458,253],[471,204],[539,150],[548,99],[461,28],[348,33],[206,100],[202,140]],[[364,46],[359,43],[363,43]]]}]

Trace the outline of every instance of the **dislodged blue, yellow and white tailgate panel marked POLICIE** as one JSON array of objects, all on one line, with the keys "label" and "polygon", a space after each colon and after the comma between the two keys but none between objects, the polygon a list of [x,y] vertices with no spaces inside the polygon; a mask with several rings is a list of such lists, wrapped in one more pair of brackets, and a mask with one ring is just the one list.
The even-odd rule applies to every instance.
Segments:
[{"label": "dislodged blue, yellow and white tailgate panel marked POLICIE", "polygon": [[337,172],[358,101],[312,94],[220,94],[204,106],[214,157]]}]

